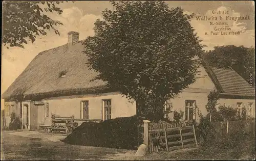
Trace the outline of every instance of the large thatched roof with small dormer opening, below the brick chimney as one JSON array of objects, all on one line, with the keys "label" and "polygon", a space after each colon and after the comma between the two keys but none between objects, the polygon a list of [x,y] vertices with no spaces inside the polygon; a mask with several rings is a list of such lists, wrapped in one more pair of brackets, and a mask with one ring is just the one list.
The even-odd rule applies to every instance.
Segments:
[{"label": "large thatched roof with small dormer opening, below the brick chimney", "polygon": [[[65,93],[104,87],[90,70],[81,42],[68,48],[67,44],[40,52],[5,91],[2,98],[17,95]],[[65,74],[65,77],[60,77]]]}]

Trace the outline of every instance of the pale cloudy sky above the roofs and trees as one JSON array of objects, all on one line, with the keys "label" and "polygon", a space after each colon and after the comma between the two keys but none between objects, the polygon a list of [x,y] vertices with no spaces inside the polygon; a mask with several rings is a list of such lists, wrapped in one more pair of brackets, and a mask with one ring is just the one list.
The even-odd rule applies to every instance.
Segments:
[{"label": "pale cloudy sky above the roofs and trees", "polygon": [[[209,25],[209,21],[191,20],[191,26],[196,30],[197,35],[202,40],[202,44],[207,45],[205,50],[214,46],[222,45],[244,45],[254,46],[254,2],[253,1],[166,1],[170,8],[181,7],[185,13],[195,13],[196,16],[222,16],[223,22],[228,23],[228,28],[232,31],[241,31],[240,35],[210,35],[214,31],[214,26]],[[63,10],[61,15],[50,14],[55,20],[59,20],[63,25],[56,28],[60,36],[54,31],[49,31],[46,36],[37,37],[34,43],[25,44],[25,48],[11,47],[7,49],[2,45],[2,79],[1,94],[13,83],[20,73],[29,65],[39,52],[54,48],[68,42],[69,31],[80,33],[79,40],[86,39],[94,35],[94,22],[102,19],[101,12],[104,9],[113,10],[109,1],[76,1],[65,2],[58,6]],[[228,11],[228,14],[214,14],[212,11]],[[249,20],[225,20],[225,17],[249,16]],[[205,33],[208,33],[205,35]]]}]

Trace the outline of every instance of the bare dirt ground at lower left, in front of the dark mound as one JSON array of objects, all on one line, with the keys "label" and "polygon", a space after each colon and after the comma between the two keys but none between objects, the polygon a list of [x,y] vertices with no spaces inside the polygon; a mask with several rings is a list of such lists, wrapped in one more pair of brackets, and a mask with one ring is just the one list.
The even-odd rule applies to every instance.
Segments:
[{"label": "bare dirt ground at lower left, in front of the dark mound", "polygon": [[134,151],[69,145],[37,131],[4,131],[1,137],[1,160],[113,160],[134,155]]}]

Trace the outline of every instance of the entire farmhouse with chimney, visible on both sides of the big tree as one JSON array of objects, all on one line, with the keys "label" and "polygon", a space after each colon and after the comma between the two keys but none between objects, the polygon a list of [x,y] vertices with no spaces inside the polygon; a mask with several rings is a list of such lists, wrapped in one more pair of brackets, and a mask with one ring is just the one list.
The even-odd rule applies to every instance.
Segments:
[{"label": "entire farmhouse with chimney, visible on both sides of the big tree", "polygon": [[[118,91],[106,88],[103,81],[91,81],[97,73],[89,69],[79,33],[69,32],[68,43],[40,52],[5,91],[5,122],[10,114],[22,118],[28,129],[50,125],[51,114],[83,119],[113,119],[136,115],[136,102]],[[170,100],[173,110],[185,111],[185,120],[198,120],[193,109],[197,105],[206,114],[210,91],[221,91],[221,104],[242,108],[255,116],[255,94],[235,71],[200,67],[197,81]]]}]

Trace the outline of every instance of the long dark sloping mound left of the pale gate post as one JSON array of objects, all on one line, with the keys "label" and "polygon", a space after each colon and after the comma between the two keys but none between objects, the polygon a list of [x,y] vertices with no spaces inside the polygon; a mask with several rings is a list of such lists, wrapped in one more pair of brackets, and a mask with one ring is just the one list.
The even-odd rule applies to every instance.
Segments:
[{"label": "long dark sloping mound left of the pale gate post", "polygon": [[101,123],[84,122],[63,140],[76,145],[135,149],[138,145],[136,116],[105,120]]}]

